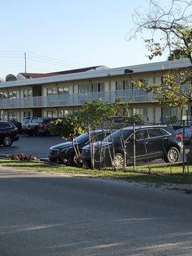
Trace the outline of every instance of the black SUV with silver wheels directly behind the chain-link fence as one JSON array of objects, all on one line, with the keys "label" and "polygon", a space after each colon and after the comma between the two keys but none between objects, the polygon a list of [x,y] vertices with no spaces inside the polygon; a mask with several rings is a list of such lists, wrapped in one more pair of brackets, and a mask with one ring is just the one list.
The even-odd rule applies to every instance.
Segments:
[{"label": "black SUV with silver wheels directly behind the chain-link fence", "polygon": [[[178,161],[183,150],[182,136],[172,127],[166,125],[136,126],[135,130],[136,161],[146,162],[154,159],[164,159],[168,163]],[[114,145],[115,157],[112,158],[116,167],[124,166],[123,148],[125,148],[127,164],[132,163],[134,158],[133,127],[115,131],[111,136],[106,137],[102,143],[95,143],[95,161],[99,162],[102,148],[102,161],[107,166],[111,166],[110,156],[114,156],[112,150]],[[82,157],[84,161],[90,163],[89,145],[83,147]]]}]

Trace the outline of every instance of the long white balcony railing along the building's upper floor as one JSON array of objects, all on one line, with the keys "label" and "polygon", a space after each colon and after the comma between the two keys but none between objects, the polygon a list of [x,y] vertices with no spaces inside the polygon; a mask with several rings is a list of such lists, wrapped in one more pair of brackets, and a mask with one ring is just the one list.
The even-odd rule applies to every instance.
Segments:
[{"label": "long white balcony railing along the building's upper floor", "polygon": [[0,109],[6,108],[39,108],[50,106],[81,106],[84,102],[93,102],[102,99],[104,102],[115,102],[116,98],[122,101],[154,102],[153,93],[146,93],[142,89],[120,90],[110,92],[91,92],[78,94],[64,94],[52,96],[26,97],[17,99],[0,99]]}]

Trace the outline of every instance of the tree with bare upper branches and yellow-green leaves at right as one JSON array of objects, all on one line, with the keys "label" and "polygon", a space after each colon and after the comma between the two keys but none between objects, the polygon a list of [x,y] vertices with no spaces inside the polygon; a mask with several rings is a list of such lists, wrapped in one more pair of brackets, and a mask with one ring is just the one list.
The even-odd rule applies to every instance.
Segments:
[{"label": "tree with bare upper branches and yellow-green leaves at right", "polygon": [[136,38],[143,31],[151,31],[152,38],[145,39],[148,58],[168,54],[168,60],[187,58],[189,67],[173,70],[164,75],[162,84],[148,87],[135,83],[147,92],[154,92],[160,104],[183,107],[191,101],[192,93],[192,7],[191,0],[172,0],[169,6],[161,6],[158,1],[149,0],[144,13],[136,10],[132,19],[135,28],[128,34],[128,40]]}]

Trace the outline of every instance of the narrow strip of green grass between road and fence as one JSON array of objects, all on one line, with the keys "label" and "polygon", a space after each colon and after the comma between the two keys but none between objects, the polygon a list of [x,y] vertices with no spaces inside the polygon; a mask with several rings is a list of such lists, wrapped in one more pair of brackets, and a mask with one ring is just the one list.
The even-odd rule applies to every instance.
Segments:
[{"label": "narrow strip of green grass between road and fence", "polygon": [[148,175],[148,166],[136,166],[136,172],[132,171],[132,166],[127,167],[127,172],[118,170],[113,172],[108,170],[89,170],[72,166],[52,165],[36,162],[24,162],[0,159],[0,166],[13,167],[23,170],[36,170],[38,172],[64,173],[68,175],[87,175],[88,177],[110,177],[114,179],[124,179],[129,181],[145,182],[169,182],[177,184],[192,184],[192,166],[189,166],[188,175],[182,175],[182,166],[172,166],[170,173],[169,164],[151,165],[152,174]]}]

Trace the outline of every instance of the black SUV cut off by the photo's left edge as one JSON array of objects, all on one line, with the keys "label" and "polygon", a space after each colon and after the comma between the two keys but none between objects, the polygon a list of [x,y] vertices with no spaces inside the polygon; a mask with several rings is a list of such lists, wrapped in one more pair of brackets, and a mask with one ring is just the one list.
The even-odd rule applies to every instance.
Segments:
[{"label": "black SUV cut off by the photo's left edge", "polygon": [[10,147],[13,141],[19,140],[19,132],[12,122],[0,121],[0,144]]}]

